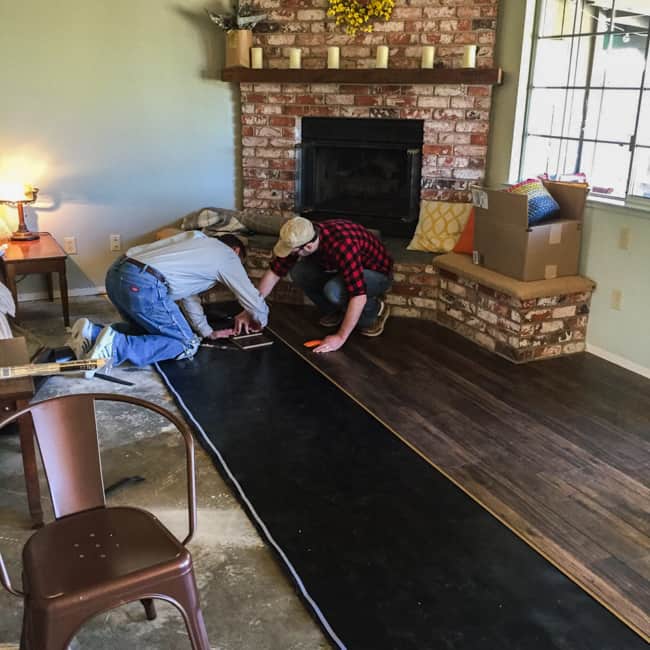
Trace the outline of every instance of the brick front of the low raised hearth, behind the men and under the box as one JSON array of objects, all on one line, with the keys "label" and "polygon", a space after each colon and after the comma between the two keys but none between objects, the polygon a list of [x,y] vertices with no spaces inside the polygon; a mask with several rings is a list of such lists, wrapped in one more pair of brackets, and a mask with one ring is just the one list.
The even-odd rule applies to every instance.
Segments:
[{"label": "brick front of the low raised hearth, behind the men and under the box", "polygon": [[[246,260],[253,281],[264,275],[272,257],[275,239],[261,239],[261,244],[251,242]],[[522,300],[459,273],[436,268],[433,260],[424,259],[427,256],[421,253],[414,255],[412,262],[395,263],[393,285],[386,296],[393,316],[436,321],[515,363],[584,351],[591,281],[577,279],[579,290]],[[276,285],[269,298],[272,303],[308,302],[286,279]],[[212,289],[203,297],[208,303],[232,299],[225,288]]]}]

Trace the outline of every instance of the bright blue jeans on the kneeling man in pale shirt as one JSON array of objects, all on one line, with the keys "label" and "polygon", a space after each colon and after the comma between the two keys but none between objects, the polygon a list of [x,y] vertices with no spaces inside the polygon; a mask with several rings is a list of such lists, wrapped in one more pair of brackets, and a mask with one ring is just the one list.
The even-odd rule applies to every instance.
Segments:
[{"label": "bright blue jeans on the kneeling man in pale shirt", "polygon": [[130,262],[117,260],[106,273],[106,292],[124,319],[112,327],[113,365],[130,361],[143,366],[165,359],[192,357],[200,339],[167,285]]}]

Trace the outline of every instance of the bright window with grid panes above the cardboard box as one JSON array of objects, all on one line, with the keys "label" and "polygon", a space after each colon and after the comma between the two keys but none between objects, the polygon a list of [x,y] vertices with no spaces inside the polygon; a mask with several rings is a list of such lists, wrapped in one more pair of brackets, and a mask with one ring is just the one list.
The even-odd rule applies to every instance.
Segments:
[{"label": "bright window with grid panes above the cardboard box", "polygon": [[650,0],[539,0],[520,176],[650,203]]}]

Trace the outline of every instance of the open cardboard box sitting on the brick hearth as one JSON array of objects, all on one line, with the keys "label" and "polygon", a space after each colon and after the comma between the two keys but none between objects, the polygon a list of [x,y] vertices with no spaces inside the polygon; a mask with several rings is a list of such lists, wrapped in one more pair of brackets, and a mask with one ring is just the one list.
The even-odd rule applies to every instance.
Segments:
[{"label": "open cardboard box sitting on the brick hearth", "polygon": [[577,275],[587,185],[544,182],[560,205],[559,218],[528,225],[528,197],[473,188],[474,249],[480,264],[530,282]]}]

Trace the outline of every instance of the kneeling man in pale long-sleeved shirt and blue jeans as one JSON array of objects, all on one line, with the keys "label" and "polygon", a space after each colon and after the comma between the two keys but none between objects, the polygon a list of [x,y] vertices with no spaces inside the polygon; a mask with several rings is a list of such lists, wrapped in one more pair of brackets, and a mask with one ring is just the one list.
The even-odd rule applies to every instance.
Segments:
[{"label": "kneeling man in pale long-sleeved shirt and blue jeans", "polygon": [[213,330],[201,305],[198,294],[217,283],[228,287],[243,308],[235,317],[235,332],[265,327],[269,309],[240,257],[245,247],[234,235],[212,238],[198,231],[129,248],[106,274],[108,297],[127,325],[102,328],[82,318],[67,345],[77,358],[109,359],[115,366],[191,358],[201,338],[232,333]]}]

